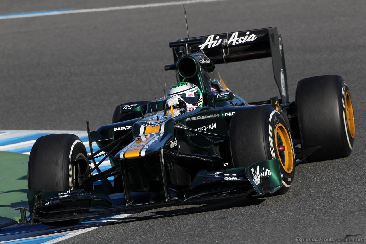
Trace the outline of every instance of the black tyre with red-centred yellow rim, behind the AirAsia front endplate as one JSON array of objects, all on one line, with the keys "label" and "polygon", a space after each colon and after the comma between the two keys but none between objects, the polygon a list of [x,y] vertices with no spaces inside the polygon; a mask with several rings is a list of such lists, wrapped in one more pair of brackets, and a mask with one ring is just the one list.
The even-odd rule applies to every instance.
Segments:
[{"label": "black tyre with red-centred yellow rim, behind the AirAsia front endplate", "polygon": [[277,193],[288,191],[295,175],[294,149],[290,130],[279,112],[270,106],[236,112],[231,119],[229,140],[234,167],[278,158],[283,187]]}]

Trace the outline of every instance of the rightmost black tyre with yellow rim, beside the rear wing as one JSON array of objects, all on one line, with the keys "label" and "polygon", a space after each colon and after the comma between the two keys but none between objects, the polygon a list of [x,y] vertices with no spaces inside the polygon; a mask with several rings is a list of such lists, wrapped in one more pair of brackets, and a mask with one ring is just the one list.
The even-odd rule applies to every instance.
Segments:
[{"label": "rightmost black tyre with yellow rim, beside the rear wing", "polygon": [[307,157],[308,161],[351,154],[355,121],[350,90],[342,77],[322,75],[300,80],[296,107],[302,147],[321,146]]}]

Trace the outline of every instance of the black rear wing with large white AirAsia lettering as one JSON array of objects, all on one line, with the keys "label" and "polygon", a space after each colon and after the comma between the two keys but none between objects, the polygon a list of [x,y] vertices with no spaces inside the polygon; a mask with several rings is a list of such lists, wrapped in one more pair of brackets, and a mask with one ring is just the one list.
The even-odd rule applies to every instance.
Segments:
[{"label": "black rear wing with large white AirAsia lettering", "polygon": [[[199,38],[202,38],[202,41],[197,44]],[[183,48],[182,45],[177,47],[179,42],[189,45],[191,53],[203,50],[214,64],[271,57],[273,74],[281,94],[281,101],[282,103],[288,102],[285,58],[281,35],[278,34],[277,27],[200,36],[189,40],[185,38],[170,42],[169,46],[173,49],[175,64],[179,58],[186,55],[185,49],[187,48]],[[176,69],[174,64],[165,66],[165,70],[174,69]]]}]

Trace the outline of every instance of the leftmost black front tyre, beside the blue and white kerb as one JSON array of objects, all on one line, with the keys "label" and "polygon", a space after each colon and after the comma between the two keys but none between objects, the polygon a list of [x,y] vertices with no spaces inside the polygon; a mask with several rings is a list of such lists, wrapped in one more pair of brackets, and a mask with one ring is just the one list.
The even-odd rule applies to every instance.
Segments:
[{"label": "leftmost black front tyre, beside the blue and white kerb", "polygon": [[[75,169],[76,158],[88,156],[85,145],[73,134],[51,134],[38,138],[34,143],[28,162],[28,189],[45,192],[79,189],[78,175],[90,170],[90,165]],[[92,185],[83,189],[91,189]],[[48,225],[70,225],[82,219],[46,223]]]}]

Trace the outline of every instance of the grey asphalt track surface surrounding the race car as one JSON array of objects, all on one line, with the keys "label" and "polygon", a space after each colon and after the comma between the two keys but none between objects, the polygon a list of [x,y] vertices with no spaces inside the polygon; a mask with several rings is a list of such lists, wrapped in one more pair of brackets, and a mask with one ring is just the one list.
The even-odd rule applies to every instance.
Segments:
[{"label": "grey asphalt track surface surrounding the race car", "polygon": [[[146,3],[152,1],[3,0],[0,15]],[[60,243],[365,239],[365,1],[228,0],[185,7],[191,37],[277,26],[290,100],[302,78],[341,75],[356,120],[351,156],[300,164],[282,196],[144,211]],[[91,129],[110,123],[118,104],[161,97],[164,80],[174,83],[174,72],[164,71],[173,62],[168,42],[186,37],[179,4],[0,22],[1,130],[85,130],[87,119]],[[270,59],[218,69],[248,101],[277,94]]]}]

